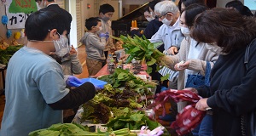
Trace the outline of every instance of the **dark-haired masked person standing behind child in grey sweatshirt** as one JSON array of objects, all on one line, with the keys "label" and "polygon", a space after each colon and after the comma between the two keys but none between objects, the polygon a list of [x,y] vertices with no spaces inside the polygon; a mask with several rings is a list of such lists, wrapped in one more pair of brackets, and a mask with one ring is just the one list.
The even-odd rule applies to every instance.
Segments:
[{"label": "dark-haired masked person standing behind child in grey sweatshirt", "polygon": [[[113,39],[112,37],[109,37],[112,35],[112,28],[111,28],[111,18],[113,16],[114,8],[108,3],[102,4],[99,9],[99,19],[102,21],[102,30],[98,31],[98,34],[105,34],[106,37],[108,37],[107,40],[107,46],[104,49],[105,56],[108,56],[108,51],[110,50],[113,52],[115,50],[115,47],[113,45]],[[103,65],[106,64],[106,59]],[[102,66],[103,66],[102,65]]]}]

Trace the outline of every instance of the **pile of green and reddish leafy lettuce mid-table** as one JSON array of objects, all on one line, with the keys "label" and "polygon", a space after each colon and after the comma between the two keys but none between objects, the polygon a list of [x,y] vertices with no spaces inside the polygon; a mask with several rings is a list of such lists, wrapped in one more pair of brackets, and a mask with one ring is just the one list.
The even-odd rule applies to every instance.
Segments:
[{"label": "pile of green and reddish leafy lettuce mid-table", "polygon": [[154,98],[149,88],[154,88],[156,83],[144,82],[128,70],[115,69],[113,74],[99,79],[108,84],[96,93],[94,99],[83,105],[81,122],[107,123],[111,116],[116,116],[115,113],[111,115],[111,111],[125,107],[142,109],[148,105],[149,98]]}]

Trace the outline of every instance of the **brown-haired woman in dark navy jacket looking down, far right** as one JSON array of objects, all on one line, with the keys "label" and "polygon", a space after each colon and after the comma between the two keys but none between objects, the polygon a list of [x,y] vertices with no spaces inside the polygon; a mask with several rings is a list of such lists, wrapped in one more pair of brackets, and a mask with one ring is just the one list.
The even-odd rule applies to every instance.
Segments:
[{"label": "brown-haired woman in dark navy jacket looking down, far right", "polygon": [[212,108],[214,136],[241,136],[241,115],[256,109],[255,18],[241,15],[235,9],[212,8],[195,19],[190,35],[198,42],[222,48],[215,50],[220,55],[211,71],[210,87],[187,88],[206,98],[200,99],[195,108]]}]

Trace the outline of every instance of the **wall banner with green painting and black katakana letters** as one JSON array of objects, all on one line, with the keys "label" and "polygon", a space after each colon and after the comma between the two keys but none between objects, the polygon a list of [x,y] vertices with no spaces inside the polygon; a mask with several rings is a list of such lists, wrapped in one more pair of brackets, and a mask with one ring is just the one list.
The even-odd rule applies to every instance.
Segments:
[{"label": "wall banner with green painting and black katakana letters", "polygon": [[25,27],[27,17],[38,11],[34,0],[7,0],[6,15],[8,16],[8,29],[22,29]]}]

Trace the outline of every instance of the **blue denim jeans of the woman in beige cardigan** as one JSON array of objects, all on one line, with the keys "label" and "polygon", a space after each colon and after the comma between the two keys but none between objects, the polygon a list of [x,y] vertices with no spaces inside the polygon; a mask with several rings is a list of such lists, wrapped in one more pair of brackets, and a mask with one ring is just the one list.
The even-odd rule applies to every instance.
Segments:
[{"label": "blue denim jeans of the woman in beige cardigan", "polygon": [[212,136],[212,115],[207,114],[201,123],[192,130],[194,136]]}]

